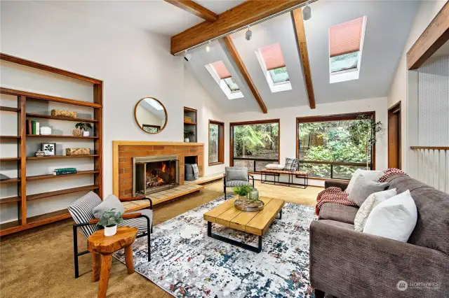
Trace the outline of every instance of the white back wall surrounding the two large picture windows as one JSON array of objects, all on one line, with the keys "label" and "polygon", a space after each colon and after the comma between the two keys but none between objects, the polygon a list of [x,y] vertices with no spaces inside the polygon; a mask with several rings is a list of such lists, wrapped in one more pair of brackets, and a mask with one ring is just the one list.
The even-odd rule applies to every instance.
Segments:
[{"label": "white back wall surrounding the two large picture windows", "polygon": [[[333,115],[344,113],[357,113],[375,111],[376,121],[387,123],[387,97],[374,99],[361,99],[355,101],[340,101],[332,104],[317,104],[314,110],[309,106],[296,106],[292,108],[277,108],[269,110],[269,113],[231,113],[227,115],[229,122],[280,119],[281,151],[280,159],[284,162],[286,157],[296,157],[296,118],[311,115]],[[229,129],[225,130],[225,160],[229,164]],[[387,134],[380,137],[376,144],[375,155],[376,169],[387,169]],[[257,177],[256,177],[257,178]],[[302,181],[300,181],[302,182]],[[310,185],[323,186],[322,180],[309,180]]]}]

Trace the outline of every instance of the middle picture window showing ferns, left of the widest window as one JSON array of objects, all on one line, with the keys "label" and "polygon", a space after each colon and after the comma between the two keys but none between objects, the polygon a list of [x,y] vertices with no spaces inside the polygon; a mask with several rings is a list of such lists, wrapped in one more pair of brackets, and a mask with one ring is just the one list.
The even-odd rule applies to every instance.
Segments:
[{"label": "middle picture window showing ferns, left of the widest window", "polygon": [[279,164],[279,119],[230,124],[232,166],[258,172],[267,164]]}]

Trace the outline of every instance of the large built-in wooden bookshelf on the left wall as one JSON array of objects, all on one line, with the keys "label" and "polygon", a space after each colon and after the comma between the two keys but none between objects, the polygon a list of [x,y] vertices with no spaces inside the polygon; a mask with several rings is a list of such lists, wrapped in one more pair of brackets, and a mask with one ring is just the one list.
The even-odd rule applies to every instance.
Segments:
[{"label": "large built-in wooden bookshelf on the left wall", "polygon": [[[8,88],[0,87],[1,94],[9,94],[17,97],[18,105],[17,108],[11,108],[6,106],[0,106],[0,111],[8,111],[17,113],[18,117],[18,133],[14,136],[0,136],[0,140],[7,142],[17,142],[18,145],[18,157],[0,157],[0,162],[11,162],[17,163],[18,167],[18,177],[17,178],[5,178],[0,180],[1,185],[6,185],[10,183],[16,183],[18,185],[18,195],[15,197],[5,197],[0,199],[0,204],[18,204],[18,220],[12,222],[6,222],[0,225],[0,236],[7,234],[20,232],[25,229],[30,229],[32,227],[38,227],[40,225],[45,225],[50,222],[55,222],[58,220],[64,220],[70,218],[70,214],[67,208],[60,211],[52,211],[32,217],[27,217],[27,201],[34,201],[48,197],[55,197],[61,194],[70,194],[75,192],[86,193],[88,191],[96,192],[100,197],[102,197],[102,80],[95,78],[89,78],[87,76],[82,76],[77,73],[72,73],[69,71],[64,71],[62,69],[56,69],[53,66],[47,66],[44,64],[39,64],[29,60],[25,60],[18,57],[13,57],[6,54],[0,54],[0,60],[5,62],[11,62],[15,64],[20,64],[22,66],[32,67],[33,69],[38,69],[40,71],[47,71],[60,76],[65,76],[69,78],[75,78],[76,80],[82,80],[83,82],[88,82],[93,84],[93,102],[79,101],[76,99],[65,99],[62,97],[53,97],[46,94],[37,94],[33,92],[26,92],[23,90],[12,90]],[[43,101],[55,101],[62,104],[70,104],[74,106],[84,106],[93,108],[93,119],[86,118],[67,118],[61,116],[53,115],[43,115],[36,113],[26,113],[27,101],[32,100],[43,100]],[[92,122],[94,123],[93,136],[61,136],[61,135],[33,135],[27,134],[26,131],[26,120],[27,118],[43,118],[51,120],[60,121],[73,121],[73,122]],[[94,143],[93,154],[91,155],[54,155],[49,157],[34,157],[27,156],[27,139],[30,138],[48,138],[48,139],[86,139],[91,140]],[[69,140],[68,140],[69,141]],[[34,162],[34,160],[40,160],[41,162],[46,162],[46,159],[58,160],[58,159],[74,159],[80,157],[91,157],[93,158],[93,170],[91,171],[78,171],[76,174],[55,176],[55,175],[38,175],[38,176],[27,176],[27,162]],[[76,164],[76,162],[74,162]],[[48,180],[51,183],[53,180],[57,181],[58,178],[70,179],[72,177],[82,176],[82,175],[93,175],[94,184],[85,185],[81,187],[71,187],[63,190],[55,190],[51,192],[43,192],[38,194],[27,194],[27,181],[36,180]],[[47,183],[47,182],[46,182]]]}]

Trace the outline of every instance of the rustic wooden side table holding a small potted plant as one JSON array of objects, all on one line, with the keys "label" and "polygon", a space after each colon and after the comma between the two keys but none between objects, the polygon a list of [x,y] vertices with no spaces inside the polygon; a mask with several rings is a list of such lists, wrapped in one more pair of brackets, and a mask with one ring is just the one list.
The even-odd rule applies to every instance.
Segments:
[{"label": "rustic wooden side table holding a small potted plant", "polygon": [[[92,281],[100,280],[98,285],[98,298],[106,297],[109,273],[111,272],[112,253],[125,248],[125,261],[128,274],[134,273],[133,249],[131,244],[138,235],[135,227],[117,227],[114,236],[105,236],[105,231],[100,229],[87,239],[87,249],[92,253]],[[101,262],[100,262],[101,256]]]}]

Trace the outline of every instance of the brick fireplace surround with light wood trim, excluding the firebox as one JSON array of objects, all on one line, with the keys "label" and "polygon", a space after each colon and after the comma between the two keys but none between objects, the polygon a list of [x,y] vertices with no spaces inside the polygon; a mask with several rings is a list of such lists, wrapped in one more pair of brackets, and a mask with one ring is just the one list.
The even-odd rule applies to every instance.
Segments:
[{"label": "brick fireplace surround with light wood trim, excluding the firebox", "polygon": [[184,184],[186,157],[197,161],[200,177],[204,174],[203,143],[113,141],[112,147],[113,191],[119,197],[133,196],[133,157],[173,157],[179,163],[179,185]]}]

